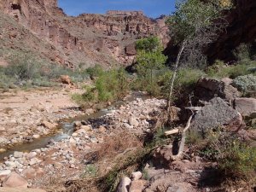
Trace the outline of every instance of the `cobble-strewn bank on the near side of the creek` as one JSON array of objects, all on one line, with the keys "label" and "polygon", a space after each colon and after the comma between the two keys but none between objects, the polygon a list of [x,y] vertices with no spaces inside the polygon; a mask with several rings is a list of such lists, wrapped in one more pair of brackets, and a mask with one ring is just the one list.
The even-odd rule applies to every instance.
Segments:
[{"label": "cobble-strewn bank on the near side of the creek", "polygon": [[[131,131],[135,134],[150,131],[154,117],[165,105],[164,100],[138,98],[136,101],[127,102],[117,110],[110,110],[100,118],[75,121],[74,132],[66,139],[60,142],[50,141],[45,148],[29,152],[17,150],[14,154],[5,157],[0,164],[2,186],[14,187],[15,179],[18,178],[22,183],[21,187],[25,185],[29,188],[48,189],[52,183],[79,178],[84,173],[85,154],[93,151],[97,145],[104,143],[118,130]],[[29,110],[29,107],[27,109]],[[52,110],[51,114],[54,112],[55,110]],[[69,116],[78,114],[80,112],[67,113]],[[34,118],[37,119],[33,116],[32,119]],[[51,118],[53,122],[54,118],[56,117]],[[42,120],[38,120],[38,124],[40,122],[42,124]],[[15,173],[19,177],[13,176]]]}]

